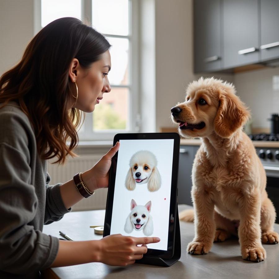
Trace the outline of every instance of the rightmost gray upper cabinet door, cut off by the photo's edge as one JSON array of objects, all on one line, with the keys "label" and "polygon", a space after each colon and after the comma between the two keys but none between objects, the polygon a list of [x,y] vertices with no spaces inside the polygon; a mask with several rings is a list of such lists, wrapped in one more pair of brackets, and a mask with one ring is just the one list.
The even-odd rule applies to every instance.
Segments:
[{"label": "rightmost gray upper cabinet door, cut off by the photo's edge", "polygon": [[279,0],[261,0],[261,60],[279,58]]}]

